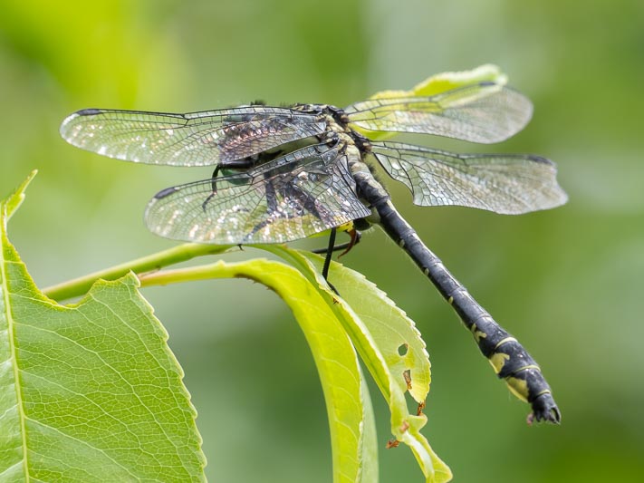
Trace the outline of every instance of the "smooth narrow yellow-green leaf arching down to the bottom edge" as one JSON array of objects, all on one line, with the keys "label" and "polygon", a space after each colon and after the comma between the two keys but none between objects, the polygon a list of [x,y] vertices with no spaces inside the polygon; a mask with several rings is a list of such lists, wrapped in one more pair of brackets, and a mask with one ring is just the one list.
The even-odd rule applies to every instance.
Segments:
[{"label": "smooth narrow yellow-green leaf arching down to the bottom edge", "polygon": [[[329,417],[333,481],[378,481],[376,430],[358,356],[325,300],[326,294],[322,295],[300,272],[283,263],[261,258],[240,263],[219,261],[207,266],[142,275],[141,284],[166,285],[232,277],[250,278],[274,290],[288,304],[303,330],[322,382]],[[306,424],[306,421],[301,423]]]}]

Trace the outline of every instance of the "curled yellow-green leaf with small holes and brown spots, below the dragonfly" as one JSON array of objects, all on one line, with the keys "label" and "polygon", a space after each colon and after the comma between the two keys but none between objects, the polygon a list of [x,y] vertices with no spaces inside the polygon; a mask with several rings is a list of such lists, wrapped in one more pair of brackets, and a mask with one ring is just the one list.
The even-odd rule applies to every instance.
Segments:
[{"label": "curled yellow-green leaf with small holes and brown spots, below the dragonfly", "polygon": [[[285,246],[257,247],[282,256],[318,287],[388,401],[391,433],[413,451],[428,482],[449,481],[450,469],[419,432],[427,423],[427,416],[416,414],[417,411],[410,413],[405,399],[409,389],[416,401],[424,403],[430,381],[428,353],[413,321],[376,285],[341,264],[332,263],[329,275],[340,298],[320,274],[322,257]],[[405,372],[409,374],[411,388]]]}]

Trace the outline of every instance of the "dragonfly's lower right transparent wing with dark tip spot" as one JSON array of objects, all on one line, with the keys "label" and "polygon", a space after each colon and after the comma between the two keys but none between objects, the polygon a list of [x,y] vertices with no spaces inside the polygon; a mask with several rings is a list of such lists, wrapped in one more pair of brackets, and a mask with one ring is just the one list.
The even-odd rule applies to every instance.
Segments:
[{"label": "dragonfly's lower right transparent wing with dark tip spot", "polygon": [[420,206],[459,205],[505,215],[554,208],[567,197],[552,161],[522,154],[455,154],[398,142],[372,152]]}]

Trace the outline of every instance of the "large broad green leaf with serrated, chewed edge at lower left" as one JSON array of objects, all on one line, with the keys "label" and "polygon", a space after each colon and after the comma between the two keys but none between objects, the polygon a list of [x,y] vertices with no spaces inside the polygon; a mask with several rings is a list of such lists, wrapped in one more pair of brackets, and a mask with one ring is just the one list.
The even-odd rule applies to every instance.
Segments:
[{"label": "large broad green leaf with serrated, chewed edge at lower left", "polygon": [[0,202],[0,479],[203,480],[196,411],[137,278],[56,304],[9,243],[33,176]]}]

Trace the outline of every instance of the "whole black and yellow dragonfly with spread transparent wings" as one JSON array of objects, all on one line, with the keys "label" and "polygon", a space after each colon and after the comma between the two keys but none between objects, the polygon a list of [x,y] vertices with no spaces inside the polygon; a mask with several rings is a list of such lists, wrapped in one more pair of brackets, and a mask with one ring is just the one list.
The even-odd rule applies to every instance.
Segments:
[{"label": "whole black and yellow dragonfly with spread transparent wings", "polygon": [[553,162],[540,156],[458,154],[370,139],[402,132],[495,143],[522,130],[532,111],[520,92],[484,81],[344,109],[306,103],[183,114],[85,109],[67,117],[60,132],[76,147],[115,159],[215,167],[208,179],[165,188],[150,200],[145,220],[161,237],[241,246],[331,230],[326,278],[336,229],[356,234],[380,226],[452,305],[497,376],[531,405],[528,422],[558,423],[561,412],[539,365],[422,242],[372,172],[380,166],[419,206],[500,214],[557,207],[566,194]]}]

